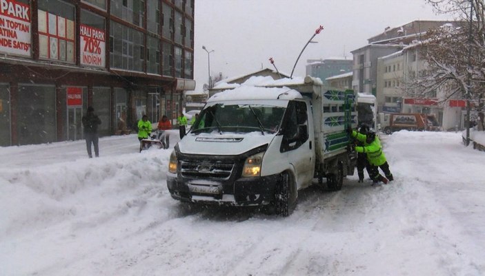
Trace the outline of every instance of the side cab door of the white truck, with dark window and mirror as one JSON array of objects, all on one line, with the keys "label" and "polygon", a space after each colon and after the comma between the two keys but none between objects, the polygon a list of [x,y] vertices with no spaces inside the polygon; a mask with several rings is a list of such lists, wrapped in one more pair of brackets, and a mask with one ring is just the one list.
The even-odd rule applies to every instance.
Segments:
[{"label": "side cab door of the white truck, with dark window and mirror", "polygon": [[295,169],[298,188],[311,183],[315,167],[315,145],[308,134],[313,128],[308,125],[307,114],[308,107],[305,102],[291,101],[282,126],[284,136],[280,151]]}]

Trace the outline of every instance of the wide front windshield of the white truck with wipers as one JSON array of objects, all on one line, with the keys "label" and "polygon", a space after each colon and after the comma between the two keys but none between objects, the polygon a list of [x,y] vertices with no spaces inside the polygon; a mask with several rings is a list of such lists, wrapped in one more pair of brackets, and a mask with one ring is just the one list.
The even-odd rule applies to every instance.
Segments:
[{"label": "wide front windshield of the white truck with wipers", "polygon": [[190,132],[218,131],[248,133],[259,131],[275,133],[279,130],[284,107],[271,105],[228,105],[218,103],[207,107],[199,114]]}]

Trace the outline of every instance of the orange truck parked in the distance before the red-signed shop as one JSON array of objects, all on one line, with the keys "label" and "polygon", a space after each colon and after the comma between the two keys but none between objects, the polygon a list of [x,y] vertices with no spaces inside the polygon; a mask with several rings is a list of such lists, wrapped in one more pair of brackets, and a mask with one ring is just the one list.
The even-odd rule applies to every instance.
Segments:
[{"label": "orange truck parked in the distance before the red-signed shop", "polygon": [[438,120],[434,114],[422,113],[381,113],[379,114],[380,129],[385,134],[392,134],[402,129],[409,131],[440,131]]}]

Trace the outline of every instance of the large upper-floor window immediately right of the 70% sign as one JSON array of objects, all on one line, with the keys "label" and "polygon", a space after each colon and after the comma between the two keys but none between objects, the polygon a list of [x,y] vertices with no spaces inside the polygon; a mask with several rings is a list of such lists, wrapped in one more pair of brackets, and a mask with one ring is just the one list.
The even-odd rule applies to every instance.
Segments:
[{"label": "large upper-floor window immediately right of the 70% sign", "polygon": [[143,72],[143,34],[115,21],[110,29],[110,66]]}]

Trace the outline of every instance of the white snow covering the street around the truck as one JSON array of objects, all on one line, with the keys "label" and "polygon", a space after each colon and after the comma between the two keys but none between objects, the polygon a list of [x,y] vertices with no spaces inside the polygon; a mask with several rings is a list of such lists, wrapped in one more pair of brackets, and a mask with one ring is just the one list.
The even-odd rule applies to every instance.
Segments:
[{"label": "white snow covering the street around the truck", "polygon": [[289,217],[173,200],[170,135],[0,147],[0,275],[485,275],[485,152],[461,132],[381,134],[395,181],[314,185]]}]

